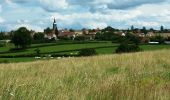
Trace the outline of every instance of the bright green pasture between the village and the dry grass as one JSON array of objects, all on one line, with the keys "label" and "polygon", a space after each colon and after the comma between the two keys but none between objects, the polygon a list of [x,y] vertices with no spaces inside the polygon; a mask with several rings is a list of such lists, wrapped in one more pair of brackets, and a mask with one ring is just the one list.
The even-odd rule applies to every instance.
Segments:
[{"label": "bright green pasture between the village and the dry grass", "polygon": [[[113,54],[119,44],[111,43],[109,41],[87,41],[87,42],[56,42],[56,43],[42,43],[33,44],[27,50],[11,52],[10,48],[14,48],[12,44],[5,47],[0,47],[0,62],[25,62],[34,61],[34,57],[20,57],[19,55],[32,55],[35,54],[35,49],[39,48],[42,55],[51,54],[70,54],[78,53],[81,49],[94,48],[98,54]],[[159,50],[170,49],[169,45],[141,45],[143,51],[146,50]],[[1,56],[14,56],[12,58],[2,58]]]}]

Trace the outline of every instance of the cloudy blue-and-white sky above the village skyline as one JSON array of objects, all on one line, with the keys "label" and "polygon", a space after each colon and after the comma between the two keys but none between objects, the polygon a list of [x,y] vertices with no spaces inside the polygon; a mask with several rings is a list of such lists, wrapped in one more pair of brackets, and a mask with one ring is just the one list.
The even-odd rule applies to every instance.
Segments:
[{"label": "cloudy blue-and-white sky above the village skyline", "polygon": [[0,0],[0,31],[27,27],[35,31],[131,25],[170,28],[170,0]]}]

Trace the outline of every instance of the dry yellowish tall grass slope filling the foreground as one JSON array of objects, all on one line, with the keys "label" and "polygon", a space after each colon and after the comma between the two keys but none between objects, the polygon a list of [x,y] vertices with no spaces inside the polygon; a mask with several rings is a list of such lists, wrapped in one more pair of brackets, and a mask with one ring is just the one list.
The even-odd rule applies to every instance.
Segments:
[{"label": "dry yellowish tall grass slope filling the foreground", "polygon": [[0,64],[3,100],[170,100],[170,51]]}]

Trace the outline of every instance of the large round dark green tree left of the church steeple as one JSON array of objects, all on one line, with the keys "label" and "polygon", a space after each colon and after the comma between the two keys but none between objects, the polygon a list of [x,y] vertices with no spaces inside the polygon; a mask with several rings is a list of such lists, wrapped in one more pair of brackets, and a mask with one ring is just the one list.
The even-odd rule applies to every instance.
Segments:
[{"label": "large round dark green tree left of the church steeple", "polygon": [[31,33],[25,27],[20,27],[18,30],[14,31],[12,36],[12,43],[14,43],[16,48],[25,49],[31,44]]}]

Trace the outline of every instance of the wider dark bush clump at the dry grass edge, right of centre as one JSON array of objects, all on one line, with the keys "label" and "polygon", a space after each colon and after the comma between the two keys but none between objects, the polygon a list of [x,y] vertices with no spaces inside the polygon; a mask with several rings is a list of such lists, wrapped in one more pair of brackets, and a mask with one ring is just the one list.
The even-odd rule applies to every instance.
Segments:
[{"label": "wider dark bush clump at the dry grass edge, right of centre", "polygon": [[122,43],[116,49],[116,53],[138,52],[140,50],[141,50],[140,47],[138,45],[136,45],[136,44]]}]

